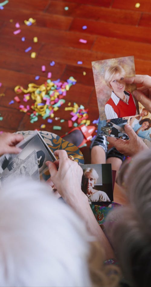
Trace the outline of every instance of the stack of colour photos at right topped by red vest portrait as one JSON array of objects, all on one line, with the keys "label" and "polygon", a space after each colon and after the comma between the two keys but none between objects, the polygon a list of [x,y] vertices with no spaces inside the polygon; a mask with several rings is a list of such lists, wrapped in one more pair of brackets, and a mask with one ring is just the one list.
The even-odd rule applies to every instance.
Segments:
[{"label": "stack of colour photos at right topped by red vest portrait", "polygon": [[92,62],[99,109],[98,133],[129,140],[124,125],[130,124],[136,134],[151,143],[151,114],[133,97],[136,86],[125,78],[135,76],[134,57]]}]

